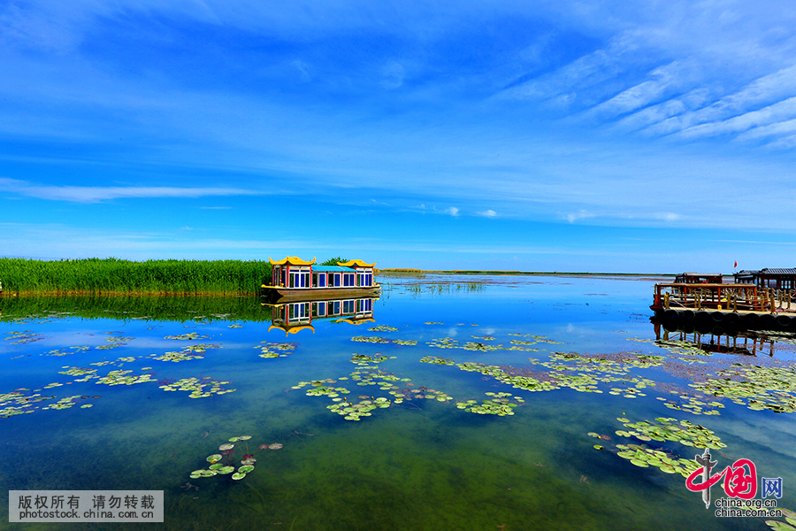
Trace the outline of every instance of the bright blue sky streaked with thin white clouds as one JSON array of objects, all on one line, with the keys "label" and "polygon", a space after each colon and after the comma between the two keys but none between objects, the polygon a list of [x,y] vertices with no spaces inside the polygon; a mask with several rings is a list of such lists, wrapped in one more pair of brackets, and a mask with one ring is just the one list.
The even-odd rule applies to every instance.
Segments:
[{"label": "bright blue sky streaked with thin white clouds", "polygon": [[794,28],[777,0],[7,0],[0,254],[796,266]]}]

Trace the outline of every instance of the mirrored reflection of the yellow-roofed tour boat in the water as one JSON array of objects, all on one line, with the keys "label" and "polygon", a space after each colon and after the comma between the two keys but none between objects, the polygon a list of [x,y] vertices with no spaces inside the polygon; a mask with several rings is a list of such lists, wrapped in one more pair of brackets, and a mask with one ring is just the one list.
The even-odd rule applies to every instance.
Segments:
[{"label": "mirrored reflection of the yellow-roofed tour boat in the water", "polygon": [[261,303],[271,308],[272,325],[268,328],[284,330],[285,335],[297,334],[302,330],[312,330],[312,323],[318,319],[333,319],[352,325],[375,322],[373,319],[374,297],[341,298],[332,300],[295,301],[287,297],[274,303]]}]

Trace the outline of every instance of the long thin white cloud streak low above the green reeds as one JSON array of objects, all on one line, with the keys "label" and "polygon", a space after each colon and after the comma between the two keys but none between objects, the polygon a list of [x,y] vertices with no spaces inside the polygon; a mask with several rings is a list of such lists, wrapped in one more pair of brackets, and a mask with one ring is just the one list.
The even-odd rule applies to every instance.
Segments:
[{"label": "long thin white cloud streak low above the green reeds", "polygon": [[26,181],[17,181],[15,179],[0,179],[0,186],[8,192],[14,192],[22,196],[52,201],[71,201],[74,203],[99,203],[111,199],[125,198],[259,196],[266,193],[250,189],[233,188],[36,186]]}]

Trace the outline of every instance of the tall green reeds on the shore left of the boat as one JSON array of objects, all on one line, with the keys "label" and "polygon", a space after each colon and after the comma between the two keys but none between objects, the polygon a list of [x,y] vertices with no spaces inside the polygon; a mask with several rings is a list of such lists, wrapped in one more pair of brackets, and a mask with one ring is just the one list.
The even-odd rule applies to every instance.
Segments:
[{"label": "tall green reeds on the shore left of the boat", "polygon": [[271,281],[264,260],[146,260],[119,258],[27,260],[0,258],[4,293],[249,295]]}]

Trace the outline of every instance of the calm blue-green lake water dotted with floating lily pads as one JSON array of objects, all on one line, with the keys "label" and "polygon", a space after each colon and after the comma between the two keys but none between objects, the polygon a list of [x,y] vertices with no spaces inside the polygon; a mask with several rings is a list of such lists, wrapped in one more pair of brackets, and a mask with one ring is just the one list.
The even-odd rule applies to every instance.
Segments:
[{"label": "calm blue-green lake water dotted with floating lily pads", "polygon": [[[76,528],[9,523],[11,489],[164,491],[163,524],[87,529],[768,529],[671,473],[700,437],[796,508],[791,336],[667,332],[654,279],[380,281],[311,321],[256,297],[0,299],[0,529]],[[219,463],[253,471],[190,477],[240,435]]]}]

